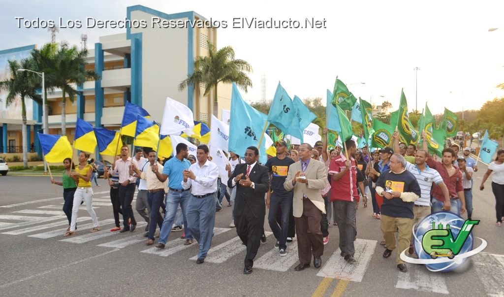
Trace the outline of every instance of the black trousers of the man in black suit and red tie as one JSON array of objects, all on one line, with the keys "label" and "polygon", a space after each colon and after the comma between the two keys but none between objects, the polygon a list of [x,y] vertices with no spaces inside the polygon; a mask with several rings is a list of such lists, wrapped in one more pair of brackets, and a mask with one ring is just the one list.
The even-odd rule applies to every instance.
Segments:
[{"label": "black trousers of the man in black suit and red tie", "polygon": [[254,258],[261,246],[261,235],[264,232],[264,216],[254,217],[248,204],[245,203],[243,207],[241,215],[234,216],[234,224],[238,237],[247,247],[244,264],[254,266]]}]

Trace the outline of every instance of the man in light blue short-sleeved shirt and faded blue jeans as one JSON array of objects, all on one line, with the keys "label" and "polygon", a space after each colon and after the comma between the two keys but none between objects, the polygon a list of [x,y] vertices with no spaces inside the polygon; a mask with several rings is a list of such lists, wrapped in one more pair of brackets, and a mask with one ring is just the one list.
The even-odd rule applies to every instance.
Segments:
[{"label": "man in light blue short-sleeved shirt and faded blue jeans", "polygon": [[184,188],[182,188],[182,172],[189,169],[189,167],[191,166],[191,162],[186,159],[189,150],[187,149],[187,145],[184,143],[177,144],[175,150],[176,155],[164,164],[163,173],[157,172],[157,168],[155,171],[158,180],[161,182],[166,181],[166,179],[169,177],[169,190],[168,194],[166,194],[166,214],[164,216],[163,226],[161,227],[161,232],[159,234],[159,243],[156,246],[156,248],[158,249],[164,249],[166,245],[166,241],[168,240],[168,236],[170,235],[173,221],[175,220],[175,215],[177,214],[178,205],[180,205],[180,208],[182,209],[182,217],[184,221],[184,246],[193,243],[193,235],[187,228],[186,217],[186,207],[187,202],[191,197],[191,191],[190,189],[184,190]]}]

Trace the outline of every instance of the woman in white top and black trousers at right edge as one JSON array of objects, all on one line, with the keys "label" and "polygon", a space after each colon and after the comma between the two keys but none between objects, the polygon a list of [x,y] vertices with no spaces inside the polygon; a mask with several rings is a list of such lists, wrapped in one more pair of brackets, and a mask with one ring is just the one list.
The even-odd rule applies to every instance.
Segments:
[{"label": "woman in white top and black trousers at right edge", "polygon": [[488,165],[488,170],[479,186],[480,190],[485,189],[486,179],[492,172],[492,192],[495,196],[495,216],[497,217],[495,225],[500,227],[504,220],[504,149],[498,150],[495,161]]}]

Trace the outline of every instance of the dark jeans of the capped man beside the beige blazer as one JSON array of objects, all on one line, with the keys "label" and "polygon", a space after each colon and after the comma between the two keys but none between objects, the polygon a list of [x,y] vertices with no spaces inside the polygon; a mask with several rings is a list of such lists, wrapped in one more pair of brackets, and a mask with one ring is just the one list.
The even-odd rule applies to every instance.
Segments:
[{"label": "dark jeans of the capped man beside the beige blazer", "polygon": [[[270,212],[268,222],[271,231],[279,242],[279,249],[287,249],[287,230],[289,229],[290,207],[292,206],[292,196],[280,197],[273,192],[270,198]],[[281,227],[277,223],[277,212],[281,210]]]}]

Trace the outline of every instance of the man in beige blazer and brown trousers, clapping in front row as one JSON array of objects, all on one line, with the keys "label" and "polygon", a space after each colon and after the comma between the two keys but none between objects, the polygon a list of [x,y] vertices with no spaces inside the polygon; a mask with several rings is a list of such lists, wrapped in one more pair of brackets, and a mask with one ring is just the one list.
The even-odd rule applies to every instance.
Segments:
[{"label": "man in beige blazer and brown trousers, clapping in front row", "polygon": [[310,266],[311,253],[313,266],[319,268],[324,254],[320,221],[326,208],[320,190],[326,186],[327,169],[321,161],[311,159],[311,150],[311,145],[307,143],[299,146],[299,161],[289,166],[284,183],[285,190],[294,190],[292,209],[299,256],[299,265],[294,268],[296,271]]}]

